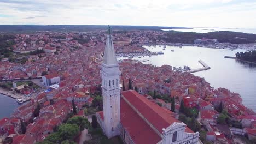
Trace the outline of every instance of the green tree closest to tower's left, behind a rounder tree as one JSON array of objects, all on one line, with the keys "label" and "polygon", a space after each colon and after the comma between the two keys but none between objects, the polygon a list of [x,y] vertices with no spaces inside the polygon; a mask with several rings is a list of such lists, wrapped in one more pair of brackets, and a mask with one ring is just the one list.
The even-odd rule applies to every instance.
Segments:
[{"label": "green tree closest to tower's left, behind a rounder tree", "polygon": [[83,118],[83,117],[72,117],[69,118],[67,121],[68,124],[77,124],[80,131],[83,131],[85,128],[88,129],[90,126],[90,122],[88,121],[87,118]]}]

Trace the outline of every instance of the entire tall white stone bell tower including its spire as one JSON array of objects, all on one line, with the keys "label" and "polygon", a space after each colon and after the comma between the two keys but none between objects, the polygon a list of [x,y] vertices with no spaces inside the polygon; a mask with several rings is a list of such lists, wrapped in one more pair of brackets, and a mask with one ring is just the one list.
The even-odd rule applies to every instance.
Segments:
[{"label": "entire tall white stone bell tower including its spire", "polygon": [[108,138],[120,133],[120,74],[112,36],[108,35],[101,68],[104,115],[103,131]]}]

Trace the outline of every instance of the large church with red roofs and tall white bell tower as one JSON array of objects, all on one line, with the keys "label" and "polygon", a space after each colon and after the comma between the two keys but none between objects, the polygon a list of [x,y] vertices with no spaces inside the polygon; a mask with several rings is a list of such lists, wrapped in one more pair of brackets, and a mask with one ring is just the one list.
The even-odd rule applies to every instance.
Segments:
[{"label": "large church with red roofs and tall white bell tower", "polygon": [[174,118],[174,113],[136,91],[120,92],[120,70],[112,35],[107,35],[101,69],[103,111],[97,121],[110,139],[120,135],[126,144],[200,143],[199,133]]}]

